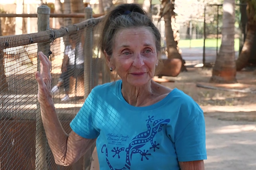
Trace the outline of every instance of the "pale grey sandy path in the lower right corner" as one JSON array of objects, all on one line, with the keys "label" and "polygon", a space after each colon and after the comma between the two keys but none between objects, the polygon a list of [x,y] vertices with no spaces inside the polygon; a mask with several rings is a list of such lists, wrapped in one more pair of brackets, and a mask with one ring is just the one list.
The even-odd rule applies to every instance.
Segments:
[{"label": "pale grey sandy path in the lower right corner", "polygon": [[206,170],[255,170],[256,123],[206,116]]}]

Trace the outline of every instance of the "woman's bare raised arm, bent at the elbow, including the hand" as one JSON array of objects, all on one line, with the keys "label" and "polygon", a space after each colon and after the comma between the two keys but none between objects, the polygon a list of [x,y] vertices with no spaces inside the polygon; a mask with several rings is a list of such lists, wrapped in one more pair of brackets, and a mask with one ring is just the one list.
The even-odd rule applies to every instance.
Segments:
[{"label": "woman's bare raised arm, bent at the elbow, including the hand", "polygon": [[86,139],[75,132],[69,135],[64,131],[54,107],[51,90],[51,63],[42,52],[38,53],[40,73],[36,72],[35,77],[38,83],[38,101],[40,104],[42,122],[49,146],[53,152],[55,162],[59,165],[69,166],[78,161],[91,147],[96,139]]}]

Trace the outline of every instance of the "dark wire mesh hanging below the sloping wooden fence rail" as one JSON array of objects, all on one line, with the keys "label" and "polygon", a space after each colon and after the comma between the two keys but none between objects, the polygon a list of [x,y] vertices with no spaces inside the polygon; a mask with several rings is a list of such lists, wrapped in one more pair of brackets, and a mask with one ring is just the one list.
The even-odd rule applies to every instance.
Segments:
[{"label": "dark wire mesh hanging below the sloping wooden fence rail", "polygon": [[[38,17],[39,19],[39,17]],[[91,89],[110,81],[97,49],[103,17],[38,33],[0,37],[0,169],[86,169],[94,146],[72,166],[58,166],[42,126],[37,82],[38,51],[52,63],[52,92],[64,130]],[[49,20],[48,20],[49,22]]]}]

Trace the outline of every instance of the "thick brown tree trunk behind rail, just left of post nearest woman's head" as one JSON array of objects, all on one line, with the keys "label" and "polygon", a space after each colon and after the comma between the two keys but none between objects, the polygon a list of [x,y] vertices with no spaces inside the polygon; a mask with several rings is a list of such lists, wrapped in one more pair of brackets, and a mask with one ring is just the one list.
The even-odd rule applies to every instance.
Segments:
[{"label": "thick brown tree trunk behind rail, just left of post nearest woman's head", "polygon": [[[72,13],[84,13],[83,0],[70,0],[71,12]],[[83,18],[72,18],[72,24],[82,22]]]}]

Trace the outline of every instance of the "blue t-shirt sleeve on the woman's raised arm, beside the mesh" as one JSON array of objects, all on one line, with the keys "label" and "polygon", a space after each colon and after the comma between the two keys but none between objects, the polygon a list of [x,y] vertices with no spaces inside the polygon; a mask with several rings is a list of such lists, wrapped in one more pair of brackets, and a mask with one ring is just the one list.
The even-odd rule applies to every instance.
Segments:
[{"label": "blue t-shirt sleeve on the woman's raised arm, beside the mesh", "polygon": [[83,106],[78,111],[78,114],[75,118],[70,122],[71,129],[81,137],[87,139],[95,139],[99,136],[99,131],[94,128],[93,123],[93,107],[94,105],[94,90],[86,98]]}]

